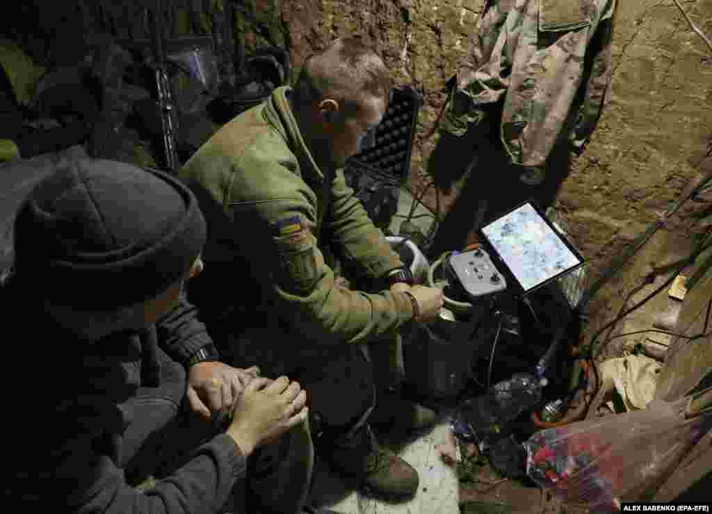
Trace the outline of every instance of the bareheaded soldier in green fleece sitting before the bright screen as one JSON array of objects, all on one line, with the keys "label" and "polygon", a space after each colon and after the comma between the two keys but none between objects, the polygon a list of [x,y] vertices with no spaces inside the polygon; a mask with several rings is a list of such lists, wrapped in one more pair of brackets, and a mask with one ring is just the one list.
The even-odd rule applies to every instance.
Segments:
[{"label": "bareheaded soldier in green fleece sitting before the bright screen", "polygon": [[[412,496],[417,472],[370,429],[374,369],[398,368],[399,329],[432,321],[442,291],[412,285],[341,170],[372,139],[391,91],[372,50],[337,40],[308,58],[294,89],[231,120],[179,174],[209,225],[206,272],[189,293],[221,350],[299,380],[317,451],[337,471],[374,493]],[[376,292],[349,289],[338,266]],[[364,343],[381,350],[373,362]],[[412,425],[434,419],[411,412]]]}]

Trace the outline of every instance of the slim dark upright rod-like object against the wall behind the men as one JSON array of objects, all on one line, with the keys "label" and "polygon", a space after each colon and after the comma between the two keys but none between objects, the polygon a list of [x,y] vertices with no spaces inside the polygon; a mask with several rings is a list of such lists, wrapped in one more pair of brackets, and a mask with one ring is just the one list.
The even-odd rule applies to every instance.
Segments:
[{"label": "slim dark upright rod-like object against the wall behind the men", "polygon": [[151,18],[151,40],[154,57],[153,68],[156,78],[157,103],[161,114],[165,165],[170,171],[176,172],[179,167],[175,139],[178,123],[171,85],[166,70],[164,33],[158,20],[159,13],[161,12],[159,4],[160,1],[156,0],[154,9],[149,9],[148,13]]}]

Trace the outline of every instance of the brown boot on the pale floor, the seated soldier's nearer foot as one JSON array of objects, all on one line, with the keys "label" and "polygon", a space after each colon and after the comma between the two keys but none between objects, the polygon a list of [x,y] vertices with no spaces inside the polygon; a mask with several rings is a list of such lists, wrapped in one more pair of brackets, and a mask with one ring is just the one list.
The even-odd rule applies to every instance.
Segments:
[{"label": "brown boot on the pale floor, the seated soldier's nearer foot", "polygon": [[335,471],[359,479],[365,492],[403,498],[418,490],[418,472],[389,449],[380,447],[368,424],[350,439],[329,446],[325,459]]}]

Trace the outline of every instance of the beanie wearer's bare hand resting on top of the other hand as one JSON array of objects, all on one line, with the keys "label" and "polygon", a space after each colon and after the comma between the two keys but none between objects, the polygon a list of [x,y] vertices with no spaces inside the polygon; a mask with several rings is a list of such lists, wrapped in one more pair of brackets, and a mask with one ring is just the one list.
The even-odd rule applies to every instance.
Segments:
[{"label": "beanie wearer's bare hand resting on top of the other hand", "polygon": [[243,454],[278,439],[308,415],[306,391],[286,377],[255,378],[235,403],[227,433]]}]

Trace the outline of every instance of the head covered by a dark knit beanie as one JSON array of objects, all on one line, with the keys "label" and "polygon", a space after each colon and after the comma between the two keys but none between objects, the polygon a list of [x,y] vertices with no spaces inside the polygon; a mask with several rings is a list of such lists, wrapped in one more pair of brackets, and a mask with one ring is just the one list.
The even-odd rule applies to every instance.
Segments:
[{"label": "head covered by a dark knit beanie", "polygon": [[19,209],[14,279],[80,338],[140,331],[201,272],[205,238],[196,198],[171,176],[66,159]]}]

